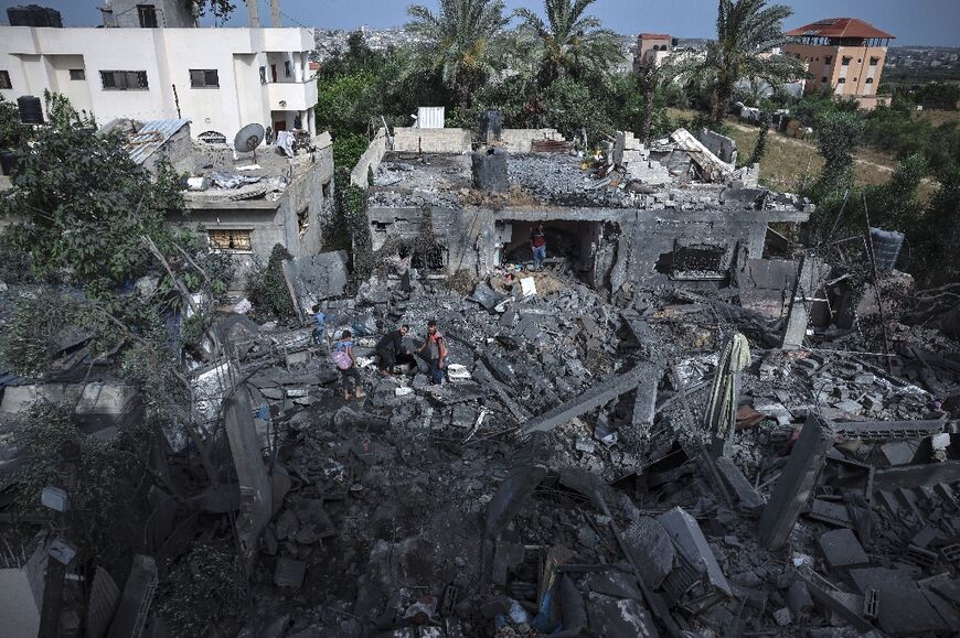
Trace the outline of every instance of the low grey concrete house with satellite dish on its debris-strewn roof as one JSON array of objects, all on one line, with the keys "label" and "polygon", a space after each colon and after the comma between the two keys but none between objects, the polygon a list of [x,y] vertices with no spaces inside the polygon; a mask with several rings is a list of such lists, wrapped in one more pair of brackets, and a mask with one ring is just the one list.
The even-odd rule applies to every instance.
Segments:
[{"label": "low grey concrete house with satellite dish on its debris-strewn roof", "polygon": [[[200,225],[210,245],[230,253],[242,273],[253,257],[266,262],[277,244],[294,257],[320,252],[322,226],[333,207],[330,133],[291,136],[237,151],[222,140],[194,140],[189,120],[114,120],[103,131],[126,137],[131,159],[156,171],[161,160],[188,175],[188,216],[170,221]],[[243,277],[236,278],[238,284]]]}]

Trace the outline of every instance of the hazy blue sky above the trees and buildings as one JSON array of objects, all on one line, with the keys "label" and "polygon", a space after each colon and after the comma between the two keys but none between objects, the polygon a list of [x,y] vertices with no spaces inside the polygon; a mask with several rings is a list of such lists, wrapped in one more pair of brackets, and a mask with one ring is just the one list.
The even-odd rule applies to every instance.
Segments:
[{"label": "hazy blue sky above the trees and buildings", "polygon": [[[143,0],[147,2],[148,0]],[[232,0],[237,9],[228,26],[246,25],[246,3]],[[96,26],[103,0],[0,0],[0,9],[30,3],[52,7],[63,14],[66,26]],[[269,22],[269,0],[259,0],[260,22]],[[508,10],[540,9],[541,0],[505,0]],[[780,0],[793,8],[785,28],[793,29],[823,18],[860,18],[897,36],[894,44],[960,47],[960,0]],[[372,29],[403,25],[406,0],[280,0],[284,26],[320,29]],[[416,0],[436,8],[437,0]],[[715,33],[716,0],[596,0],[591,12],[619,33],[670,33],[678,37],[711,37]],[[6,17],[0,18],[0,20]],[[4,20],[6,22],[6,20]]]}]

